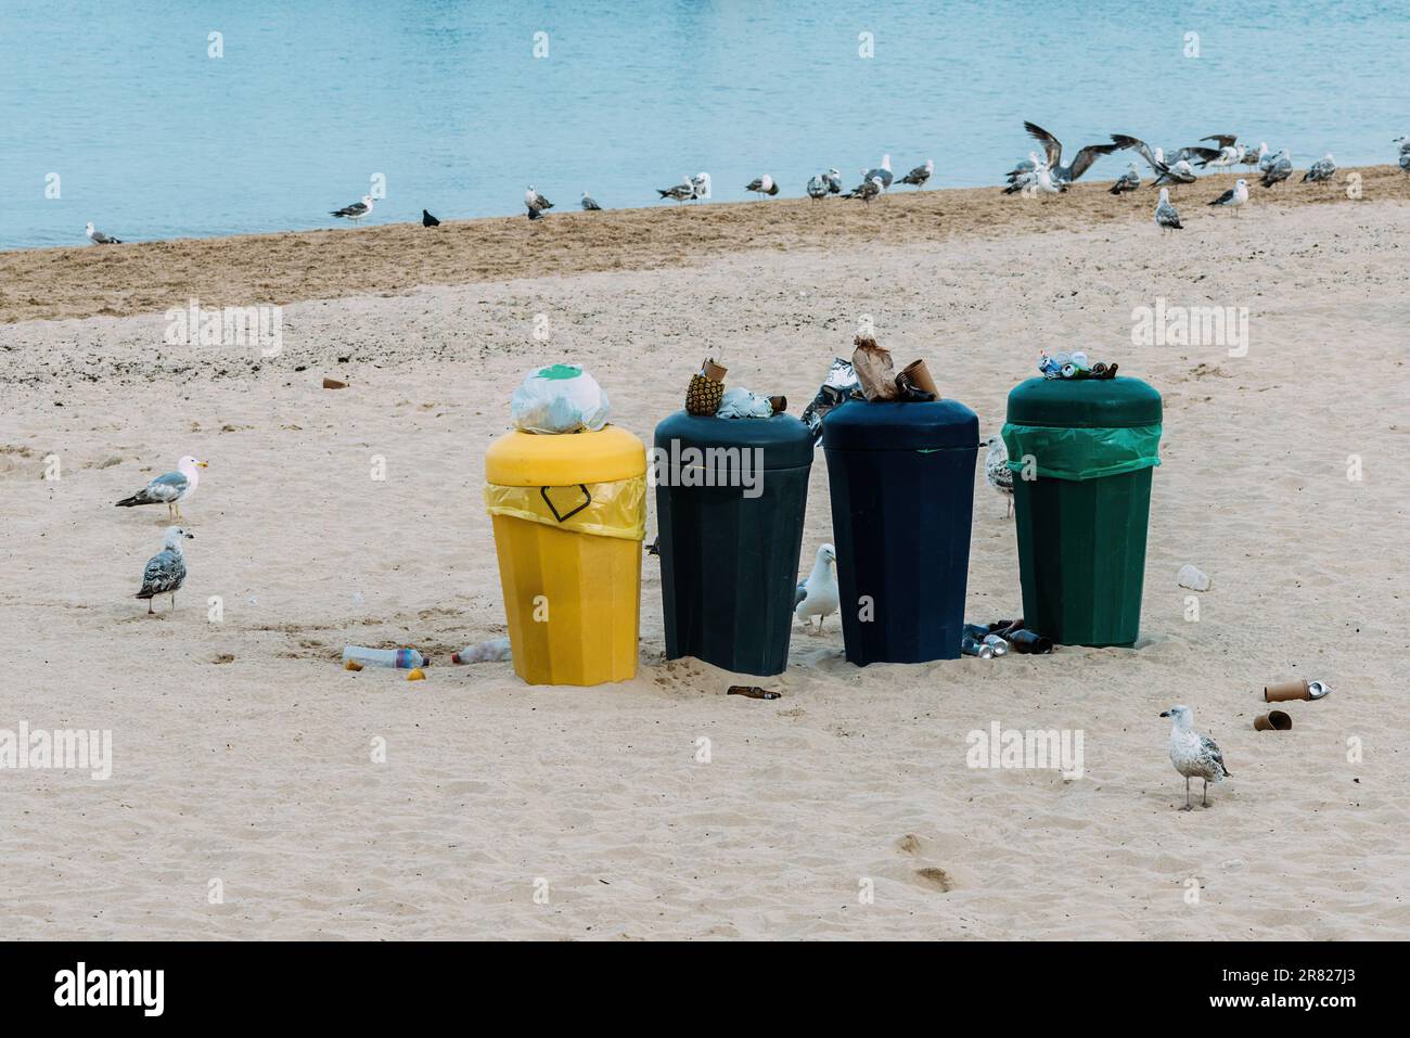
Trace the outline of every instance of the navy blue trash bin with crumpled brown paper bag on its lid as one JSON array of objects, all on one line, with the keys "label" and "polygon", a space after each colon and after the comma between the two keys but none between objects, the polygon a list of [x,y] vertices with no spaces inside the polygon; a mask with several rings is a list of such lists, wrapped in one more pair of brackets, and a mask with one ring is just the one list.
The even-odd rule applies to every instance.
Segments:
[{"label": "navy blue trash bin with crumpled brown paper bag on its lid", "polygon": [[957,659],[979,417],[956,401],[849,401],[822,447],[847,660]]}]

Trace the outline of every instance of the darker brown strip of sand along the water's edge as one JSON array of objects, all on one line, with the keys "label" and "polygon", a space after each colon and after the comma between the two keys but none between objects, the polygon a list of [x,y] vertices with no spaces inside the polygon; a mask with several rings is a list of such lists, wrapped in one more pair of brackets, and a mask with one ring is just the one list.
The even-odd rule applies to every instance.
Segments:
[{"label": "darker brown strip of sand along the water's edge", "polygon": [[[1251,209],[1349,202],[1347,178],[1361,176],[1359,200],[1410,202],[1410,176],[1396,166],[1338,171],[1334,188],[1290,179],[1253,185]],[[1186,227],[1196,209],[1239,176],[1211,173],[1179,188],[1173,200]],[[894,188],[871,204],[843,199],[715,202],[599,213],[482,217],[351,230],[282,231],[221,238],[173,238],[111,247],[0,252],[0,324],[28,320],[124,317],[202,306],[288,305],[362,295],[406,295],[434,285],[522,281],[605,271],[684,267],[725,252],[846,248],[867,243],[993,240],[1011,234],[1149,221],[1149,176],[1135,196],[1112,197],[1111,181],[1079,182],[1067,195],[1029,200],[998,188]],[[1211,219],[1242,219],[1213,213]]]}]

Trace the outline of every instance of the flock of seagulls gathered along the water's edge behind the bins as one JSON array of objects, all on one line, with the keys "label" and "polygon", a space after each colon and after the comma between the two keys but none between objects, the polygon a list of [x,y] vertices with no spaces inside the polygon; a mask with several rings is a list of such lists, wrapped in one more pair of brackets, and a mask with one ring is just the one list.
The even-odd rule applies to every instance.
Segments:
[{"label": "flock of seagulls gathered along the water's edge behind the bins", "polygon": [[[1117,151],[1131,149],[1139,154],[1146,161],[1146,165],[1151,166],[1151,186],[1160,189],[1160,199],[1155,207],[1155,223],[1163,231],[1183,230],[1184,224],[1180,223],[1180,213],[1170,202],[1170,189],[1180,185],[1194,183],[1198,179],[1197,171],[1200,169],[1225,171],[1232,169],[1234,166],[1256,169],[1259,173],[1259,183],[1263,188],[1276,188],[1293,175],[1293,161],[1287,148],[1282,148],[1276,152],[1270,151],[1268,141],[1259,141],[1258,147],[1253,148],[1249,144],[1239,142],[1237,134],[1210,134],[1208,137],[1201,137],[1197,144],[1172,148],[1169,152],[1163,148],[1152,148],[1139,137],[1131,137],[1129,134],[1111,134],[1110,144],[1089,144],[1073,155],[1072,162],[1065,164],[1062,161],[1062,141],[1036,123],[1024,123],[1024,130],[1026,130],[1028,135],[1042,145],[1042,152],[1028,152],[1026,159],[1018,162],[1004,175],[1007,183],[1003,190],[1005,195],[1024,195],[1028,197],[1062,195],[1069,186],[1072,186],[1073,182],[1091,169],[1093,164],[1098,158],[1111,155]],[[1397,137],[1392,141],[1392,144],[1400,148],[1400,169],[1410,173],[1410,137]],[[845,199],[862,199],[862,202],[870,203],[890,190],[893,185],[924,188],[933,175],[935,161],[926,159],[922,165],[915,166],[905,176],[897,179],[895,173],[891,171],[891,155],[883,155],[881,165],[873,169],[862,171],[862,183],[854,186],[852,190],[845,192],[842,189],[842,173],[835,168],[829,168],[809,178],[805,190],[808,197],[814,200],[822,200],[832,195],[838,195]],[[1311,164],[1307,172],[1303,173],[1301,182],[1331,183],[1335,176],[1337,162],[1331,157],[1331,152],[1328,152]],[[1110,192],[1120,196],[1135,192],[1139,188],[1141,171],[1135,162],[1129,162],[1127,164],[1125,172],[1121,173],[1121,176],[1118,176],[1111,185]],[[759,195],[760,197],[774,197],[778,195],[780,186],[773,176],[764,173],[763,176],[756,176],[744,185],[744,190]],[[658,200],[663,202],[667,199],[671,202],[698,202],[708,199],[711,195],[709,173],[702,172],[695,176],[688,173],[682,175],[680,183],[671,185],[670,188],[657,188],[656,193],[660,196]],[[1239,179],[1232,188],[1207,204],[1218,209],[1230,209],[1237,213],[1238,209],[1248,202],[1248,181]],[[580,204],[584,212],[588,213],[602,209],[602,206],[599,206],[587,192],[582,192]],[[354,202],[350,206],[331,210],[330,216],[350,223],[361,223],[372,213],[374,206],[375,203],[372,196],[364,195],[361,200]],[[529,185],[527,190],[525,190],[525,207],[527,209],[530,220],[541,220],[544,213],[553,209],[553,203],[536,190],[533,185]],[[424,227],[437,227],[440,226],[440,220],[423,209],[422,224]],[[92,221],[87,224],[86,233],[89,241],[94,245],[123,244],[121,238],[104,234],[97,230]]]}]

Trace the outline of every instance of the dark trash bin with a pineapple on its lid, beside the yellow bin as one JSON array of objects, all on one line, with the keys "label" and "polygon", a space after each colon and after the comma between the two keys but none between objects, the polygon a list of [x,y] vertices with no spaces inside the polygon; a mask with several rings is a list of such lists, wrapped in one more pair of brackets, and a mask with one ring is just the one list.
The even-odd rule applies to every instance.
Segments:
[{"label": "dark trash bin with a pineapple on its lid, beside the yellow bin", "polygon": [[788,415],[656,427],[666,656],[743,674],[788,667],[812,436]]}]

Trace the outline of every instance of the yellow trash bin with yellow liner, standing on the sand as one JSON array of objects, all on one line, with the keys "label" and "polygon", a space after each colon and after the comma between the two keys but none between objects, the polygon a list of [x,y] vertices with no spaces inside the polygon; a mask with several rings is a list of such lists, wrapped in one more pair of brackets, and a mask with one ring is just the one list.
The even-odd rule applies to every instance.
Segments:
[{"label": "yellow trash bin with yellow liner, standing on the sand", "polygon": [[512,432],[485,454],[515,673],[536,685],[636,674],[646,446],[625,429]]}]

